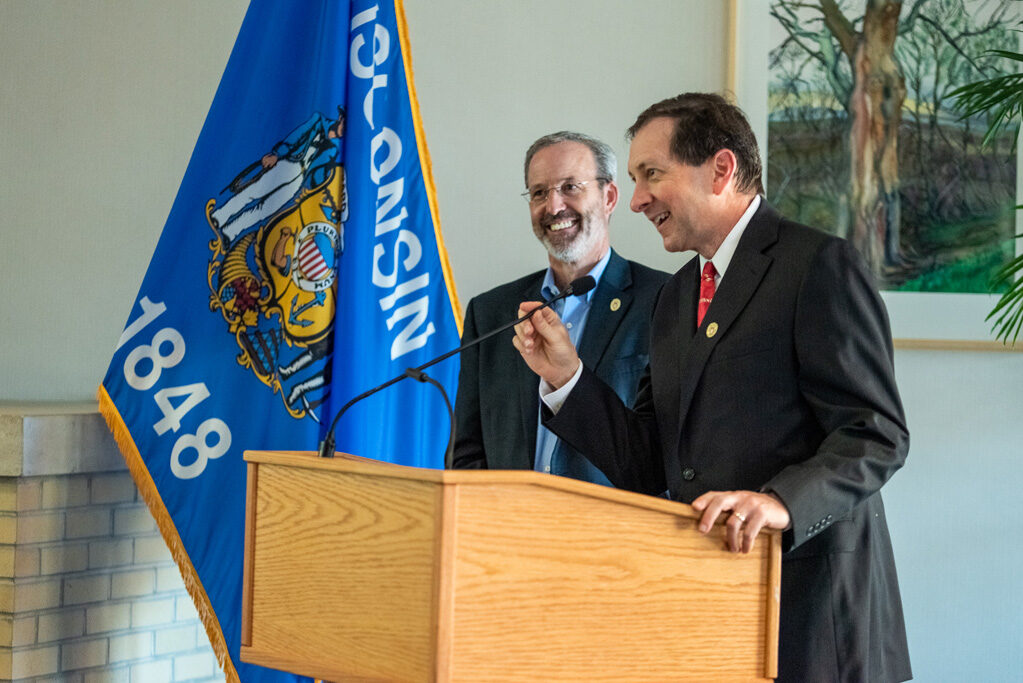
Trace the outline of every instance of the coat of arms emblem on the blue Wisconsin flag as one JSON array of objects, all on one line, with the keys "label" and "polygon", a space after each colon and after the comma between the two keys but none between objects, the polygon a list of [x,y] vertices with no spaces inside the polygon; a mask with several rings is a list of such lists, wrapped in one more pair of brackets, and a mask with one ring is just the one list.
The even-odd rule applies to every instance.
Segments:
[{"label": "coat of arms emblem on the blue Wisconsin flag", "polygon": [[315,113],[206,204],[210,310],[234,335],[237,362],[319,421],[330,385],[337,273],[348,218],[345,111]]}]

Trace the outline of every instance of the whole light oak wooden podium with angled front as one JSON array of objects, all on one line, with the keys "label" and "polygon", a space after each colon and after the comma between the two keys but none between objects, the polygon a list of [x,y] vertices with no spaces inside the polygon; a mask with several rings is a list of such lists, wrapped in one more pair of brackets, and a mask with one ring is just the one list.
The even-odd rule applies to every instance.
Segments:
[{"label": "whole light oak wooden podium with angled front", "polygon": [[532,471],[248,452],[241,658],[330,681],[762,681],[781,537]]}]

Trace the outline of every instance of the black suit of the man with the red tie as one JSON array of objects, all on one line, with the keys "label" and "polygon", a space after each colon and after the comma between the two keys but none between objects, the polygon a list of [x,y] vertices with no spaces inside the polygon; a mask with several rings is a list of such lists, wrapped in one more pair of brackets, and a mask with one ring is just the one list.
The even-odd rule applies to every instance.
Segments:
[{"label": "black suit of the man with the red tie", "polygon": [[661,292],[633,411],[584,371],[545,423],[621,488],[775,493],[792,515],[779,680],[908,679],[879,493],[908,432],[871,275],[845,240],[763,203],[698,329],[699,276],[693,259]]}]

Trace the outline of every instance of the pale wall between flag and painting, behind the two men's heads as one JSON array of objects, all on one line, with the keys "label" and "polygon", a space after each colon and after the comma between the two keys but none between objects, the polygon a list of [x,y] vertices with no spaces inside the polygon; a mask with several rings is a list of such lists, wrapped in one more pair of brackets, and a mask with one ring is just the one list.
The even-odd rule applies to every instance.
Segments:
[{"label": "pale wall between flag and painting, behind the two men's heads", "polygon": [[666,254],[650,222],[629,211],[625,129],[659,99],[722,87],[724,8],[706,0],[406,2],[441,224],[463,305],[546,266],[519,194],[526,148],[559,130],[595,135],[618,151],[613,246],[671,272],[687,259]]}]

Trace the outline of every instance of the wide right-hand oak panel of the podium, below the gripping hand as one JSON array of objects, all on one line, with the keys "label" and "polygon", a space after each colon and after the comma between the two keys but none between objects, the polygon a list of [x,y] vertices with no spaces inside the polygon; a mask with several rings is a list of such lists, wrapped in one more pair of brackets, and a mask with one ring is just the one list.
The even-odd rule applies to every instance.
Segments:
[{"label": "wide right-hand oak panel of the podium, below the gripping hand", "polygon": [[451,680],[767,680],[771,536],[732,554],[692,516],[520,489],[459,488]]}]

